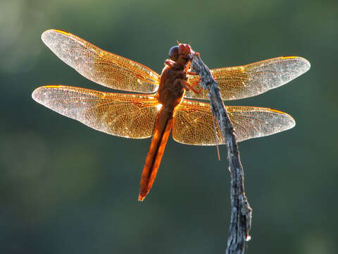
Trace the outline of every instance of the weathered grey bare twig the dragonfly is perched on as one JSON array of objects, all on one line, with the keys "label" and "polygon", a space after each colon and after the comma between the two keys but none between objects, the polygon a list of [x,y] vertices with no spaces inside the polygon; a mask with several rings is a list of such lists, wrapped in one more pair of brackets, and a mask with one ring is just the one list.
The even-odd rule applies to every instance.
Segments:
[{"label": "weathered grey bare twig the dragonfly is perched on", "polygon": [[244,173],[234,135],[234,127],[229,119],[223,100],[220,97],[218,84],[213,79],[208,67],[195,54],[192,69],[200,76],[200,86],[208,90],[211,111],[222,132],[227,145],[227,159],[231,174],[231,221],[227,238],[226,254],[244,253],[245,243],[249,240],[251,228],[251,207],[244,193]]}]

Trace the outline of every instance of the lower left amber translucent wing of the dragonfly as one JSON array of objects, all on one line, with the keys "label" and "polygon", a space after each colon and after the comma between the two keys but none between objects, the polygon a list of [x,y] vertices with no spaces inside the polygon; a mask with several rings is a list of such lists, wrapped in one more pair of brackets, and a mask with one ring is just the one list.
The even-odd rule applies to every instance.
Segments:
[{"label": "lower left amber translucent wing of the dragonfly", "polygon": [[39,87],[32,97],[97,131],[125,138],[151,137],[159,105],[153,95],[97,92],[63,85]]}]

